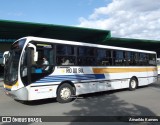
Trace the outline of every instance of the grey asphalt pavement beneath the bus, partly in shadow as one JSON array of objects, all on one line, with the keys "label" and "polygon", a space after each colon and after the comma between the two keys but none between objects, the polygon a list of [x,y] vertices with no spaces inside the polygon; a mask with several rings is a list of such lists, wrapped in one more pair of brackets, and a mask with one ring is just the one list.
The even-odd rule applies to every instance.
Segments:
[{"label": "grey asphalt pavement beneath the bus, partly in shadow", "polygon": [[[0,116],[160,116],[160,83],[140,87],[135,91],[124,89],[83,95],[82,98],[66,104],[60,104],[55,99],[23,104],[6,96],[3,88],[0,87]],[[9,125],[9,123],[0,124]],[[53,123],[48,122],[46,124],[52,125]],[[84,123],[55,122],[54,124],[74,125]],[[86,123],[86,125],[88,124]],[[97,123],[90,124],[96,125]],[[117,125],[117,123],[112,124]],[[140,122],[138,124],[157,125],[154,122]]]}]

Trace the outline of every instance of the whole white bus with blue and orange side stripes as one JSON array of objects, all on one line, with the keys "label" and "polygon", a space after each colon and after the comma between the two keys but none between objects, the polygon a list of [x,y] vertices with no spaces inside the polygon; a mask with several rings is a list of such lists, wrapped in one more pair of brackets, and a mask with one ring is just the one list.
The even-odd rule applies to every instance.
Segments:
[{"label": "whole white bus with blue and orange side stripes", "polygon": [[17,100],[66,103],[81,94],[135,90],[157,81],[153,51],[25,37],[7,53],[4,90]]}]

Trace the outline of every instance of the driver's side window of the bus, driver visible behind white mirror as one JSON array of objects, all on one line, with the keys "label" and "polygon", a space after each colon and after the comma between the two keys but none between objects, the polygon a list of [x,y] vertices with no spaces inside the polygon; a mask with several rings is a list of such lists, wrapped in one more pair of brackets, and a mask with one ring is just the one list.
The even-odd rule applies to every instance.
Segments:
[{"label": "driver's side window of the bus, driver visible behind white mirror", "polygon": [[[36,44],[38,60],[31,61],[31,82],[42,82],[41,79],[54,71],[54,46],[51,44]],[[32,52],[31,52],[31,55]],[[42,83],[46,83],[48,80]]]}]

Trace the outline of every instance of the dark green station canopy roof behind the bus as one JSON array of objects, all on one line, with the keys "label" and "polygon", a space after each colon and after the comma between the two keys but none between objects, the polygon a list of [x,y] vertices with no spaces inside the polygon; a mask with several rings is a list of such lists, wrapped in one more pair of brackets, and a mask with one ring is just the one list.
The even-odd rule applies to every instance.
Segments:
[{"label": "dark green station canopy roof behind the bus", "polygon": [[37,36],[152,50],[156,51],[160,57],[160,41],[136,38],[114,38],[111,37],[111,32],[109,30],[0,20],[0,51],[3,52],[9,50],[10,45],[16,39],[25,36]]}]

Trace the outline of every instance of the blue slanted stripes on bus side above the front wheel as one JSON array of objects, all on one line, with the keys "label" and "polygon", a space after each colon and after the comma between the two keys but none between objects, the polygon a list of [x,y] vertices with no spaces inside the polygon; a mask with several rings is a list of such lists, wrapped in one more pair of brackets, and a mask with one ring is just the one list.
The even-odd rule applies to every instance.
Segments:
[{"label": "blue slanted stripes on bus side above the front wheel", "polygon": [[45,83],[45,82],[62,82],[65,80],[70,81],[80,81],[80,80],[95,80],[104,79],[104,74],[79,74],[79,75],[55,75],[44,77],[35,83]]}]

